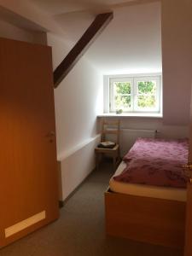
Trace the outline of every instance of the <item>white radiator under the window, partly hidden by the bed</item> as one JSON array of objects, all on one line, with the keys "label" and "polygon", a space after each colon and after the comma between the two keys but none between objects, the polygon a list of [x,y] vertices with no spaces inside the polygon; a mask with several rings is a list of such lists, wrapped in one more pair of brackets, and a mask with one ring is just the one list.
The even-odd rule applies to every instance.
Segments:
[{"label": "white radiator under the window, partly hidden by the bed", "polygon": [[155,130],[139,130],[139,129],[120,129],[120,155],[124,156],[136,142],[137,137],[151,137],[156,136]]}]

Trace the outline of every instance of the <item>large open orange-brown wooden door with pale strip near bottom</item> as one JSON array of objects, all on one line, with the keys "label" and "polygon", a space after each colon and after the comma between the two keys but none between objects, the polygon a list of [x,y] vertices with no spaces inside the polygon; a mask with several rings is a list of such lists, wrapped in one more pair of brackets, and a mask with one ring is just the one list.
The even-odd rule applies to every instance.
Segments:
[{"label": "large open orange-brown wooden door with pale strip near bottom", "polygon": [[0,38],[0,247],[58,218],[51,49]]}]

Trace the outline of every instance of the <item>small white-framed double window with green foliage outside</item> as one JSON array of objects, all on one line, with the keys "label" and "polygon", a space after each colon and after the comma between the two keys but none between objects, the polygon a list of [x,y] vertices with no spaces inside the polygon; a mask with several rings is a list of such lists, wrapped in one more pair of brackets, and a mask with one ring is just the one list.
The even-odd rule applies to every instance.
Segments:
[{"label": "small white-framed double window with green foliage outside", "polygon": [[160,76],[109,78],[109,112],[160,113]]}]

